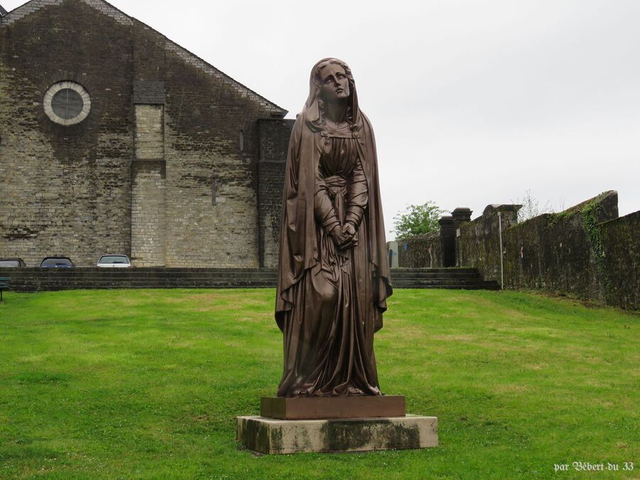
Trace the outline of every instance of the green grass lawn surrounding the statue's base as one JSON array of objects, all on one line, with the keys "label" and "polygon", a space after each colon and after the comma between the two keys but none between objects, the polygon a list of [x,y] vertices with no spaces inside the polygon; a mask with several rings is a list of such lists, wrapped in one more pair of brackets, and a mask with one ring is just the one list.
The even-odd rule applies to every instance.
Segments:
[{"label": "green grass lawn surrounding the statue's base", "polygon": [[[516,292],[398,290],[381,388],[435,449],[256,456],[282,368],[274,290],[14,294],[0,304],[0,478],[640,478],[639,316]],[[623,471],[634,462],[634,471]]]}]

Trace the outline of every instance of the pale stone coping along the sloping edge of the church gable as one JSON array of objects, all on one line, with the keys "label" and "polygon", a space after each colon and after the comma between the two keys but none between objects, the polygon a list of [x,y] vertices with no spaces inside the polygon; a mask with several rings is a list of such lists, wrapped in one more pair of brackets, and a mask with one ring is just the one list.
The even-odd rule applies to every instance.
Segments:
[{"label": "pale stone coping along the sloping edge of the church gable", "polygon": [[[66,0],[27,1],[25,4],[22,4],[21,6],[17,6],[15,9],[9,11],[9,13],[6,14],[6,16],[3,16],[0,26],[10,25],[11,23],[18,21],[21,18],[28,16],[29,14],[33,14],[34,12],[46,6],[60,5],[64,1]],[[122,10],[118,9],[116,6],[113,6],[108,1],[105,1],[105,0],[80,0],[80,1],[82,1],[84,4],[87,4],[88,6],[91,6],[97,11],[100,11],[100,13],[102,14],[105,14],[107,16],[110,16],[111,18],[114,18],[114,20],[116,20],[118,23],[121,23],[123,25],[132,26],[133,22],[135,21],[140,23],[141,25],[146,26],[146,28],[151,29],[151,31],[154,31],[154,33],[164,38],[164,48],[166,48],[166,50],[169,50],[170,52],[175,53],[182,60],[186,61],[186,63],[193,65],[196,68],[200,68],[201,70],[205,71],[210,75],[213,75],[215,78],[218,78],[219,80],[223,80],[223,82],[228,83],[228,85],[235,86],[236,90],[239,93],[243,93],[245,94],[245,96],[254,97],[254,100],[257,100],[257,102],[260,102],[263,106],[274,109],[274,113],[276,114],[282,114],[282,116],[284,117],[284,115],[288,113],[287,110],[285,110],[284,108],[275,104],[271,100],[268,100],[266,97],[263,97],[262,95],[255,92],[254,90],[251,90],[249,87],[247,87],[246,85],[243,85],[241,82],[238,82],[238,80],[235,80],[234,78],[230,77],[230,75],[227,75],[222,70],[215,68],[213,65],[208,63],[206,60],[203,60],[203,58],[199,57],[198,55],[191,52],[190,50],[187,50],[183,46],[178,45],[178,43],[176,43],[175,41],[172,41],[170,38],[164,35],[164,33],[157,31],[152,26],[147,25],[146,23],[138,20],[137,18],[134,18],[132,16],[125,14]]]}]

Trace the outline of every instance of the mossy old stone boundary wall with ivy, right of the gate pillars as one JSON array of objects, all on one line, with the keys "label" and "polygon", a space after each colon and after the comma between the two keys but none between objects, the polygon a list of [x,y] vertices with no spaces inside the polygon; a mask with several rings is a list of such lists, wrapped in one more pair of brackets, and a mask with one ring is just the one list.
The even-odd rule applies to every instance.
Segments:
[{"label": "mossy old stone boundary wall with ivy, right of the gate pillars", "polygon": [[[617,193],[605,192],[562,213],[505,226],[505,288],[545,289],[636,309],[639,215],[618,219]],[[461,265],[500,281],[496,212],[461,228]],[[634,268],[634,265],[636,267]]]}]

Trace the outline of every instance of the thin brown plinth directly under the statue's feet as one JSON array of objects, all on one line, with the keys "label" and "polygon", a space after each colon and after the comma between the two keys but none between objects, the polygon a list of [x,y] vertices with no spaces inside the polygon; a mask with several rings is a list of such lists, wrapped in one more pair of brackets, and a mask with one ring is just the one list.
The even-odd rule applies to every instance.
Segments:
[{"label": "thin brown plinth directly under the statue's feet", "polygon": [[404,417],[405,413],[405,398],[401,395],[260,399],[260,415],[280,420]]}]

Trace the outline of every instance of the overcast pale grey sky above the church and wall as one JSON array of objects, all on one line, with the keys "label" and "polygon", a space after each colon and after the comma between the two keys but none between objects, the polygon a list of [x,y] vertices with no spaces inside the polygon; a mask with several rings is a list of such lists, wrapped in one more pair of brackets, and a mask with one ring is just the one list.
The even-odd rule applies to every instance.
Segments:
[{"label": "overcast pale grey sky above the church and wall", "polygon": [[555,208],[617,190],[621,215],[640,209],[639,0],[110,3],[289,118],[316,60],[346,60],[388,230],[409,203],[475,217],[526,190]]}]

